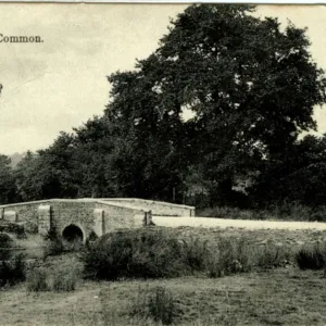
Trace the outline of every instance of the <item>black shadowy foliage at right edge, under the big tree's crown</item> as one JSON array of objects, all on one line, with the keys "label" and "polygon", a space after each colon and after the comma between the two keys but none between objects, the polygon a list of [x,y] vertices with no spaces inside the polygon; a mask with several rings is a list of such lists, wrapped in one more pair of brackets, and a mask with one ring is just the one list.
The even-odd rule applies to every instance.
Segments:
[{"label": "black shadowy foliage at right edge, under the big tree's crown", "polygon": [[308,135],[281,158],[266,162],[250,192],[261,206],[268,202],[321,206],[326,200],[325,160],[326,135]]}]

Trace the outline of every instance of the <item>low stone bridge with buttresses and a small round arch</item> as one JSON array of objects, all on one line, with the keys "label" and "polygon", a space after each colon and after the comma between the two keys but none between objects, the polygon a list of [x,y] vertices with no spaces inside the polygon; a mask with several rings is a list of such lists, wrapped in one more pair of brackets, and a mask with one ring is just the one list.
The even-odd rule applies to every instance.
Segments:
[{"label": "low stone bridge with buttresses and a small round arch", "polygon": [[117,228],[137,228],[152,216],[195,216],[195,208],[137,198],[48,199],[0,205],[0,225],[21,224],[26,233],[55,228],[67,240],[83,241]]}]

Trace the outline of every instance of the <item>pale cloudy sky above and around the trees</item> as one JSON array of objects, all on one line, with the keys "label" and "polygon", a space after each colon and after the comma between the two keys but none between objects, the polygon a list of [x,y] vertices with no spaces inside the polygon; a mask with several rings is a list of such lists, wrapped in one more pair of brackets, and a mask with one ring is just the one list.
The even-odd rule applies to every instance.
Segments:
[{"label": "pale cloudy sky above and around the trees", "polygon": [[[46,148],[109,102],[106,76],[131,70],[167,33],[186,4],[1,3],[0,34],[40,36],[41,43],[0,42],[0,153]],[[258,7],[260,16],[308,27],[311,53],[326,71],[326,7]],[[326,108],[315,109],[326,133]]]}]

